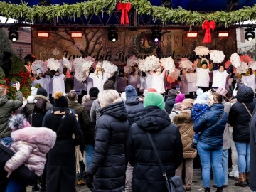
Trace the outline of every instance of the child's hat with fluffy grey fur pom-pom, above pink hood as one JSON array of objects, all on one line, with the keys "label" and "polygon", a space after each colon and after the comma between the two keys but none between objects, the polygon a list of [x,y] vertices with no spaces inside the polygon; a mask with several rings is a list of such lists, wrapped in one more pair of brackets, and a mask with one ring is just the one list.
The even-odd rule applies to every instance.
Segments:
[{"label": "child's hat with fluffy grey fur pom-pom, above pink hood", "polygon": [[12,115],[9,119],[8,125],[13,131],[24,127],[31,127],[31,124],[29,124],[23,114]]}]

